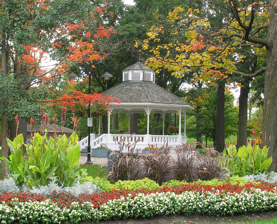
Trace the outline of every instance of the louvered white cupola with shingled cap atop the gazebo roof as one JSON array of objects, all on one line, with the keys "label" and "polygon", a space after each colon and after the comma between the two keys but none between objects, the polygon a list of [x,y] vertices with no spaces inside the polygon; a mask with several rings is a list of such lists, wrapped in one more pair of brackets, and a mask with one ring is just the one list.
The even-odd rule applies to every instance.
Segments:
[{"label": "louvered white cupola with shingled cap atop the gazebo roof", "polygon": [[122,70],[123,72],[123,82],[139,82],[139,81],[150,81],[155,83],[155,71],[152,69],[146,68],[146,66],[137,62],[126,69]]}]

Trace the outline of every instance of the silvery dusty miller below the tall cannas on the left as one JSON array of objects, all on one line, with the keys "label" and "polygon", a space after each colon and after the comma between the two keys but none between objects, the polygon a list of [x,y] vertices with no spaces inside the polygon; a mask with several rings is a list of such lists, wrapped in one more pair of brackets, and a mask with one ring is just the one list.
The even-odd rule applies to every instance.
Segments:
[{"label": "silvery dusty miller below the tall cannas on the left", "polygon": [[0,181],[0,192],[26,192],[41,194],[41,195],[51,195],[55,190],[56,192],[70,192],[74,196],[79,194],[93,194],[101,192],[101,188],[91,182],[80,183],[77,179],[71,187],[59,186],[57,183],[57,178],[53,175],[50,177],[48,185],[39,186],[38,188],[30,188],[28,185],[24,184],[21,188],[16,185],[15,179],[9,176],[8,178]]}]

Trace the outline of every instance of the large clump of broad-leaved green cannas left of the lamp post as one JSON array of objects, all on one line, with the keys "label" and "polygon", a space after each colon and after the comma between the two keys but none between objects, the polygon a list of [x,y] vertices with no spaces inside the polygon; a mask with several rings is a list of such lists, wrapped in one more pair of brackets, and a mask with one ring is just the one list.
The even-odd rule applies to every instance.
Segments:
[{"label": "large clump of broad-leaved green cannas left of the lamp post", "polygon": [[[41,136],[34,134],[29,144],[24,144],[23,135],[19,134],[13,141],[7,139],[11,155],[1,157],[9,167],[10,175],[17,185],[27,183],[30,187],[47,185],[53,174],[58,184],[71,186],[77,178],[81,180],[87,175],[86,169],[80,169],[81,156],[78,136],[75,132],[69,138],[65,135],[55,139],[47,139],[47,132]],[[26,155],[22,145],[26,146]]]}]

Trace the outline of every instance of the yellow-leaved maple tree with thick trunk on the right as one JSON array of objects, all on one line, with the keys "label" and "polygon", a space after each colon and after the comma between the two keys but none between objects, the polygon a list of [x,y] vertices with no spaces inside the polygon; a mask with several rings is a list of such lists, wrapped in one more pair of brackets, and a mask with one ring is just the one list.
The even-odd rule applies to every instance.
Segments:
[{"label": "yellow-leaved maple tree with thick trunk on the right", "polygon": [[[186,12],[176,7],[164,21],[169,29],[164,29],[164,24],[152,26],[149,38],[142,41],[143,49],[150,49],[153,55],[148,64],[158,72],[166,67],[176,76],[200,70],[201,76],[194,77],[192,82],[200,79],[215,84],[217,80],[228,82],[228,74],[255,77],[266,72],[262,139],[263,144],[271,148],[269,153],[275,161],[271,168],[276,170],[276,0],[205,2],[208,8],[216,6],[224,15],[223,20],[213,23],[198,17],[199,9],[191,8]],[[171,36],[171,42],[159,45],[159,39],[164,36]],[[178,36],[186,40],[180,42]],[[157,45],[150,46],[150,39],[157,41]],[[161,49],[167,52],[164,57],[161,57]],[[266,60],[266,67],[258,67],[252,73],[237,70],[236,63],[243,61],[247,54]]]}]

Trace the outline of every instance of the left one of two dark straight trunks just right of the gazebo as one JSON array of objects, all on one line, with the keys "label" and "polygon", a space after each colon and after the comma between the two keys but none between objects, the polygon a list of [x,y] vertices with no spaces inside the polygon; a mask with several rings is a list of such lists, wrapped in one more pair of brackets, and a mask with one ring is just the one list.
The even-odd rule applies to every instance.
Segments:
[{"label": "left one of two dark straight trunks just right of the gazebo", "polygon": [[214,148],[217,151],[223,152],[225,148],[225,136],[224,136],[224,102],[225,102],[225,85],[221,81],[217,88],[217,101],[216,101],[216,127],[215,127],[215,139]]}]

